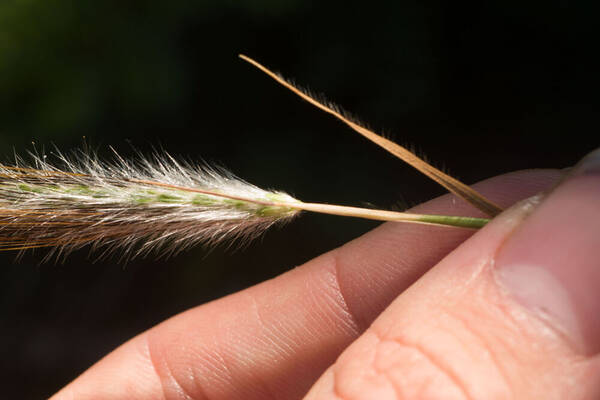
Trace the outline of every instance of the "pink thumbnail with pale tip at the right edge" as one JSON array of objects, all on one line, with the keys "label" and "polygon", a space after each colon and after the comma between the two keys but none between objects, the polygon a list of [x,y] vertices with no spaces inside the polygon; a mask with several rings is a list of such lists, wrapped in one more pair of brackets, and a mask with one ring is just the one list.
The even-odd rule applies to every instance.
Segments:
[{"label": "pink thumbnail with pale tip at the right edge", "polygon": [[578,351],[600,352],[600,149],[515,229],[495,268],[500,285]]}]

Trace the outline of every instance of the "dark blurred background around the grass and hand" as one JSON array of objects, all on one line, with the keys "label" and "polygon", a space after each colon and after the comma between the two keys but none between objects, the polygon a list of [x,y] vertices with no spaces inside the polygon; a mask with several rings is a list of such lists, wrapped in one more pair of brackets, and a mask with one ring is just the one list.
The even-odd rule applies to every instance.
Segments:
[{"label": "dark blurred background around the grass and hand", "polygon": [[[598,14],[583,4],[2,0],[0,156],[85,138],[106,157],[158,147],[222,164],[306,201],[404,207],[444,192],[243,52],[467,183],[567,167],[600,142]],[[169,316],[376,225],[305,215],[244,250],[126,265],[2,253],[0,397],[47,397]]]}]

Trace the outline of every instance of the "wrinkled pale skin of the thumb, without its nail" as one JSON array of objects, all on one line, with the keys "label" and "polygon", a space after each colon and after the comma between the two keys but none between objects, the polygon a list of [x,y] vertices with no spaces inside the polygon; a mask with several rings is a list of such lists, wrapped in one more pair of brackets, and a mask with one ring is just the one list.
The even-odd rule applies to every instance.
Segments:
[{"label": "wrinkled pale skin of the thumb, without its nail", "polygon": [[[399,393],[418,387],[421,394],[455,393],[457,398],[561,399],[595,393],[599,374],[593,359],[583,359],[530,315],[496,276],[499,249],[529,223],[540,201],[541,196],[522,200],[404,291],[338,359],[337,379],[345,377],[363,393],[379,378]],[[377,362],[373,357],[353,362],[360,358],[356,354],[379,346],[369,341],[373,333],[401,351],[388,348]]]}]

